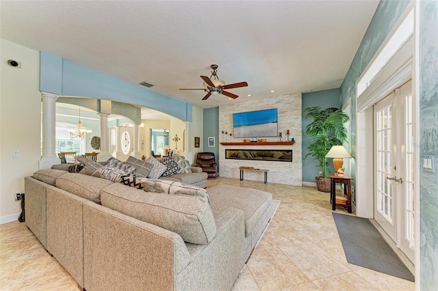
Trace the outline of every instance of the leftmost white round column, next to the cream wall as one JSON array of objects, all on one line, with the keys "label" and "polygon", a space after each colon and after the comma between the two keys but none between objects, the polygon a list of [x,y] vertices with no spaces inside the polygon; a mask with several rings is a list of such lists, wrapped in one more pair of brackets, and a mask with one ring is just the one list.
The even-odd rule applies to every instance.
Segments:
[{"label": "leftmost white round column, next to the cream wall", "polygon": [[56,99],[57,95],[41,92],[42,96],[42,156],[39,168],[50,168],[61,164],[55,152],[56,138]]}]

